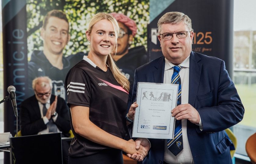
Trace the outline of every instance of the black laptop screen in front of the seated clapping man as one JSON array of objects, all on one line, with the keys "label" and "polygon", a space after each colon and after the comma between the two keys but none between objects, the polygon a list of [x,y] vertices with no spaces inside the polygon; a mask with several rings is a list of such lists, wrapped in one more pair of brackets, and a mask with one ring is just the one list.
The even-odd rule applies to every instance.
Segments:
[{"label": "black laptop screen in front of the seated clapping man", "polygon": [[62,164],[61,133],[10,138],[10,163]]}]

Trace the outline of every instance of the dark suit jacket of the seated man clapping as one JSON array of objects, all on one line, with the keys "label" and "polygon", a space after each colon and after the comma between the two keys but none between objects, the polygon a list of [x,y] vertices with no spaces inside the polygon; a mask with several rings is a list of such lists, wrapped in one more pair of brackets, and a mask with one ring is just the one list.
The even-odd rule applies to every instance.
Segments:
[{"label": "dark suit jacket of the seated man clapping", "polygon": [[[55,95],[51,96],[50,103],[55,100]],[[58,97],[56,112],[58,117],[55,124],[66,137],[69,137],[70,121],[69,110],[66,101]],[[43,118],[41,118],[40,108],[36,96],[31,96],[24,100],[20,106],[20,130],[21,135],[37,135],[38,132],[46,129]]]}]

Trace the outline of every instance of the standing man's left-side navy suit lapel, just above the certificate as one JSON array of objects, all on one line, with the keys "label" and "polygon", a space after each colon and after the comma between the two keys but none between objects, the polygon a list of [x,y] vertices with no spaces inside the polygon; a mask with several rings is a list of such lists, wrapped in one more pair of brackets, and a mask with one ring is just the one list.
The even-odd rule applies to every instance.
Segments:
[{"label": "standing man's left-side navy suit lapel, just above the certificate", "polygon": [[155,65],[156,70],[153,71],[154,83],[164,82],[165,58],[164,56],[158,60]]}]

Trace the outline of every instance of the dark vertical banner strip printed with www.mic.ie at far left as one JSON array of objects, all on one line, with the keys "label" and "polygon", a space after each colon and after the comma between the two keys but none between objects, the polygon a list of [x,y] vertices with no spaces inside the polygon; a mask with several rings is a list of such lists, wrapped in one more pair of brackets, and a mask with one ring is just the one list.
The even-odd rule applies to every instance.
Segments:
[{"label": "dark vertical banner strip printed with www.mic.ie at far left", "polygon": [[[20,103],[27,96],[27,24],[26,0],[2,1],[3,22],[3,68],[4,96],[8,96],[7,88],[16,88],[16,103],[19,111]],[[11,101],[4,103],[4,132],[16,134],[16,117]],[[19,125],[19,124],[18,124]]]}]

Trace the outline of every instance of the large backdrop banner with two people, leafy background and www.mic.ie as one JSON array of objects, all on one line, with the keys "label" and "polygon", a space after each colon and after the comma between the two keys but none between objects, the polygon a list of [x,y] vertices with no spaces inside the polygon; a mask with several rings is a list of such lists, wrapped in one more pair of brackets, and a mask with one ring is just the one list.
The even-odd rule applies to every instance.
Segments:
[{"label": "large backdrop banner with two people, leafy background and www.mic.ie", "polygon": [[[46,26],[43,27],[45,15],[55,9],[66,15],[69,38],[59,37],[57,40],[54,36],[53,39],[52,33],[48,31],[50,19],[45,21]],[[52,94],[67,99],[64,89],[66,73],[90,51],[86,30],[91,17],[97,12],[122,13],[135,22],[132,34],[129,33],[129,27],[123,27],[127,28],[124,35],[127,32],[129,36],[132,35],[132,39],[129,42],[126,41],[127,45],[123,45],[129,52],[116,61],[119,69],[123,71],[130,83],[133,83],[135,69],[148,62],[146,49],[149,0],[2,0],[4,95],[9,95],[7,88],[10,85],[16,88],[18,115],[20,103],[34,95],[32,80],[35,77],[49,76],[53,81]],[[59,18],[55,16],[54,19]],[[119,22],[125,24],[121,19]],[[64,25],[65,23],[64,21]],[[58,45],[60,45],[59,48]],[[56,51],[61,52],[63,67],[54,65],[55,61],[49,55]],[[136,65],[132,61],[137,61]],[[14,136],[16,125],[12,103],[5,102],[4,132],[11,132]]]}]

